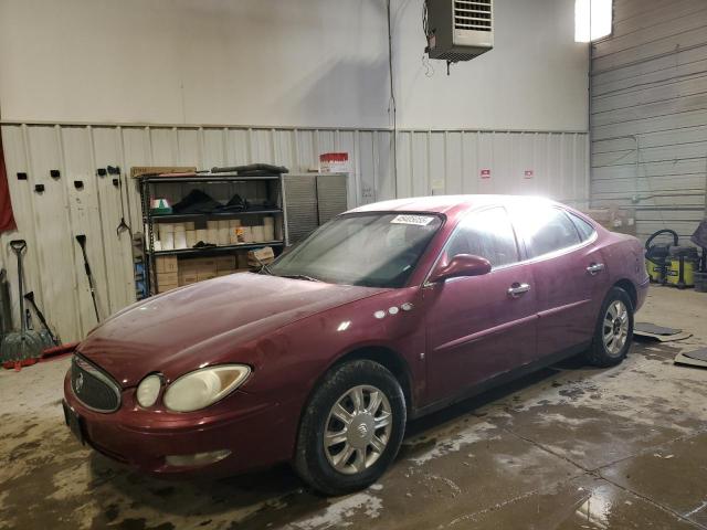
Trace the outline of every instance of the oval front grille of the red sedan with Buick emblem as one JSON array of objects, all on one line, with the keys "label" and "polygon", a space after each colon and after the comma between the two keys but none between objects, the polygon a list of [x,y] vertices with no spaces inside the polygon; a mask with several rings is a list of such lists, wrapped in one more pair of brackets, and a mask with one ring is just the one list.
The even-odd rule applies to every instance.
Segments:
[{"label": "oval front grille of the red sedan with Buick emblem", "polygon": [[71,389],[76,399],[92,411],[108,413],[120,406],[118,383],[78,356],[74,356],[71,363]]}]

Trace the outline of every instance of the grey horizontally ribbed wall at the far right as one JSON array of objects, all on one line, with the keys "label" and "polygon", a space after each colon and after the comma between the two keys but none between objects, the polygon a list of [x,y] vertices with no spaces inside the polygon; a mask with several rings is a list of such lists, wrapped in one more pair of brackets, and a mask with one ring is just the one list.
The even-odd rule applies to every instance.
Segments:
[{"label": "grey horizontally ribbed wall at the far right", "polygon": [[639,235],[704,218],[707,2],[615,0],[591,61],[592,205],[635,205]]}]

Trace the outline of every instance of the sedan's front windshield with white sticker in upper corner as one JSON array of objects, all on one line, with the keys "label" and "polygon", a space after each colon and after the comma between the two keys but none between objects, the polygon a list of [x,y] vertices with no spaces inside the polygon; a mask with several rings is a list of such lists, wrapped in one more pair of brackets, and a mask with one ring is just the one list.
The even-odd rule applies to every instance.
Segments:
[{"label": "sedan's front windshield with white sticker in upper corner", "polygon": [[276,276],[402,287],[442,225],[435,214],[366,213],[325,224],[268,268]]}]

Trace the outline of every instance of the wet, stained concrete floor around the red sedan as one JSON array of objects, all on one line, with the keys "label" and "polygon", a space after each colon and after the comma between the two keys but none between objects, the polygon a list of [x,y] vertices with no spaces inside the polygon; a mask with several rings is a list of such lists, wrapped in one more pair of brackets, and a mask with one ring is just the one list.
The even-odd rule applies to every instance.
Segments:
[{"label": "wet, stained concrete floor around the red sedan", "polygon": [[63,425],[67,360],[0,373],[0,528],[707,529],[707,295],[654,288],[639,320],[695,337],[635,343],[621,367],[553,367],[409,426],[389,473],[325,499],[286,467],[163,483]]}]

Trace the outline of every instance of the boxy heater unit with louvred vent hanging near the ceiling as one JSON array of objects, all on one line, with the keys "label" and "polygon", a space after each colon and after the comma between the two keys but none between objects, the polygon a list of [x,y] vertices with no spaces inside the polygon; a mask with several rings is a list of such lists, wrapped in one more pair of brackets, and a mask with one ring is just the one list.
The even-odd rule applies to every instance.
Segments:
[{"label": "boxy heater unit with louvred vent hanging near the ceiling", "polygon": [[493,0],[425,0],[430,59],[468,61],[494,47]]}]

